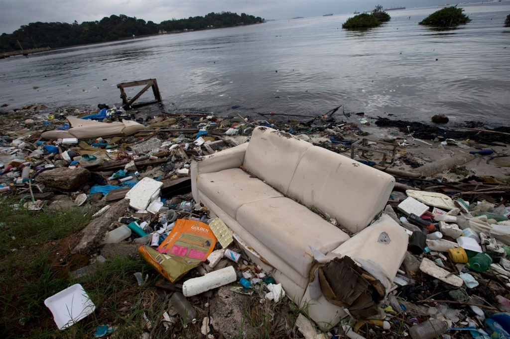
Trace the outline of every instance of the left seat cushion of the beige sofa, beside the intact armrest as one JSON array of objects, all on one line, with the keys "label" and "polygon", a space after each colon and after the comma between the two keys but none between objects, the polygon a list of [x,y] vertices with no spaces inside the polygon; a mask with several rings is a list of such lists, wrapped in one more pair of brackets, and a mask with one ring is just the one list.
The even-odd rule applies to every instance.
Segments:
[{"label": "left seat cushion of the beige sofa, beside the intact armrest", "polygon": [[203,173],[196,177],[199,191],[233,218],[243,204],[283,196],[271,186],[250,176],[241,168]]}]

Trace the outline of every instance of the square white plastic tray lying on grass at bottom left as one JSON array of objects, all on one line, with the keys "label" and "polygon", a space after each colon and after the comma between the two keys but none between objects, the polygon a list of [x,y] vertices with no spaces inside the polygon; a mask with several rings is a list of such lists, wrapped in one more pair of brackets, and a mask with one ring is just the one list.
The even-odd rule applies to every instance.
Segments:
[{"label": "square white plastic tray lying on grass at bottom left", "polygon": [[75,284],[44,300],[59,329],[65,329],[94,312],[95,305],[80,284]]}]

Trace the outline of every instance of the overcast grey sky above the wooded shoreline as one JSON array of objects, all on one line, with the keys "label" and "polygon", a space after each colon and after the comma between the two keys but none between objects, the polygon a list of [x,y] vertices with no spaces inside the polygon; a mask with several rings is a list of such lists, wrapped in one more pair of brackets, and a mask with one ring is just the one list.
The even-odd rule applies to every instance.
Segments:
[{"label": "overcast grey sky above the wooded shoreline", "polygon": [[[0,34],[12,33],[30,22],[73,22],[100,20],[112,14],[136,16],[160,23],[172,18],[230,11],[265,19],[295,16],[343,14],[383,7],[427,7],[446,0],[0,0]],[[452,2],[452,4],[455,2]]]}]

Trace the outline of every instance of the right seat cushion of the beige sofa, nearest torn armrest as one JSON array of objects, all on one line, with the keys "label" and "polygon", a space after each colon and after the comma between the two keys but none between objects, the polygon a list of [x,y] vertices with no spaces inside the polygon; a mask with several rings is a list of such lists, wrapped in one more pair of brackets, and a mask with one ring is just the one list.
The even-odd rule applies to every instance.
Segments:
[{"label": "right seat cushion of the beige sofa, nearest torn armrest", "polygon": [[286,197],[246,203],[237,211],[236,219],[303,276],[308,276],[313,262],[310,246],[325,254],[349,239],[340,229]]}]

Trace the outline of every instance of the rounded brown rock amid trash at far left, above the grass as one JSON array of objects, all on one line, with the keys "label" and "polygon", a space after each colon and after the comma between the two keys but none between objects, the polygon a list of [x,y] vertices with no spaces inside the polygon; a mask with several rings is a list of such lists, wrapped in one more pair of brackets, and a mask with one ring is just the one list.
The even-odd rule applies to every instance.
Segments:
[{"label": "rounded brown rock amid trash at far left, above the grass", "polygon": [[58,188],[66,191],[77,190],[81,185],[90,180],[90,172],[83,167],[67,168],[59,167],[44,171],[37,176],[35,181],[46,187]]}]

